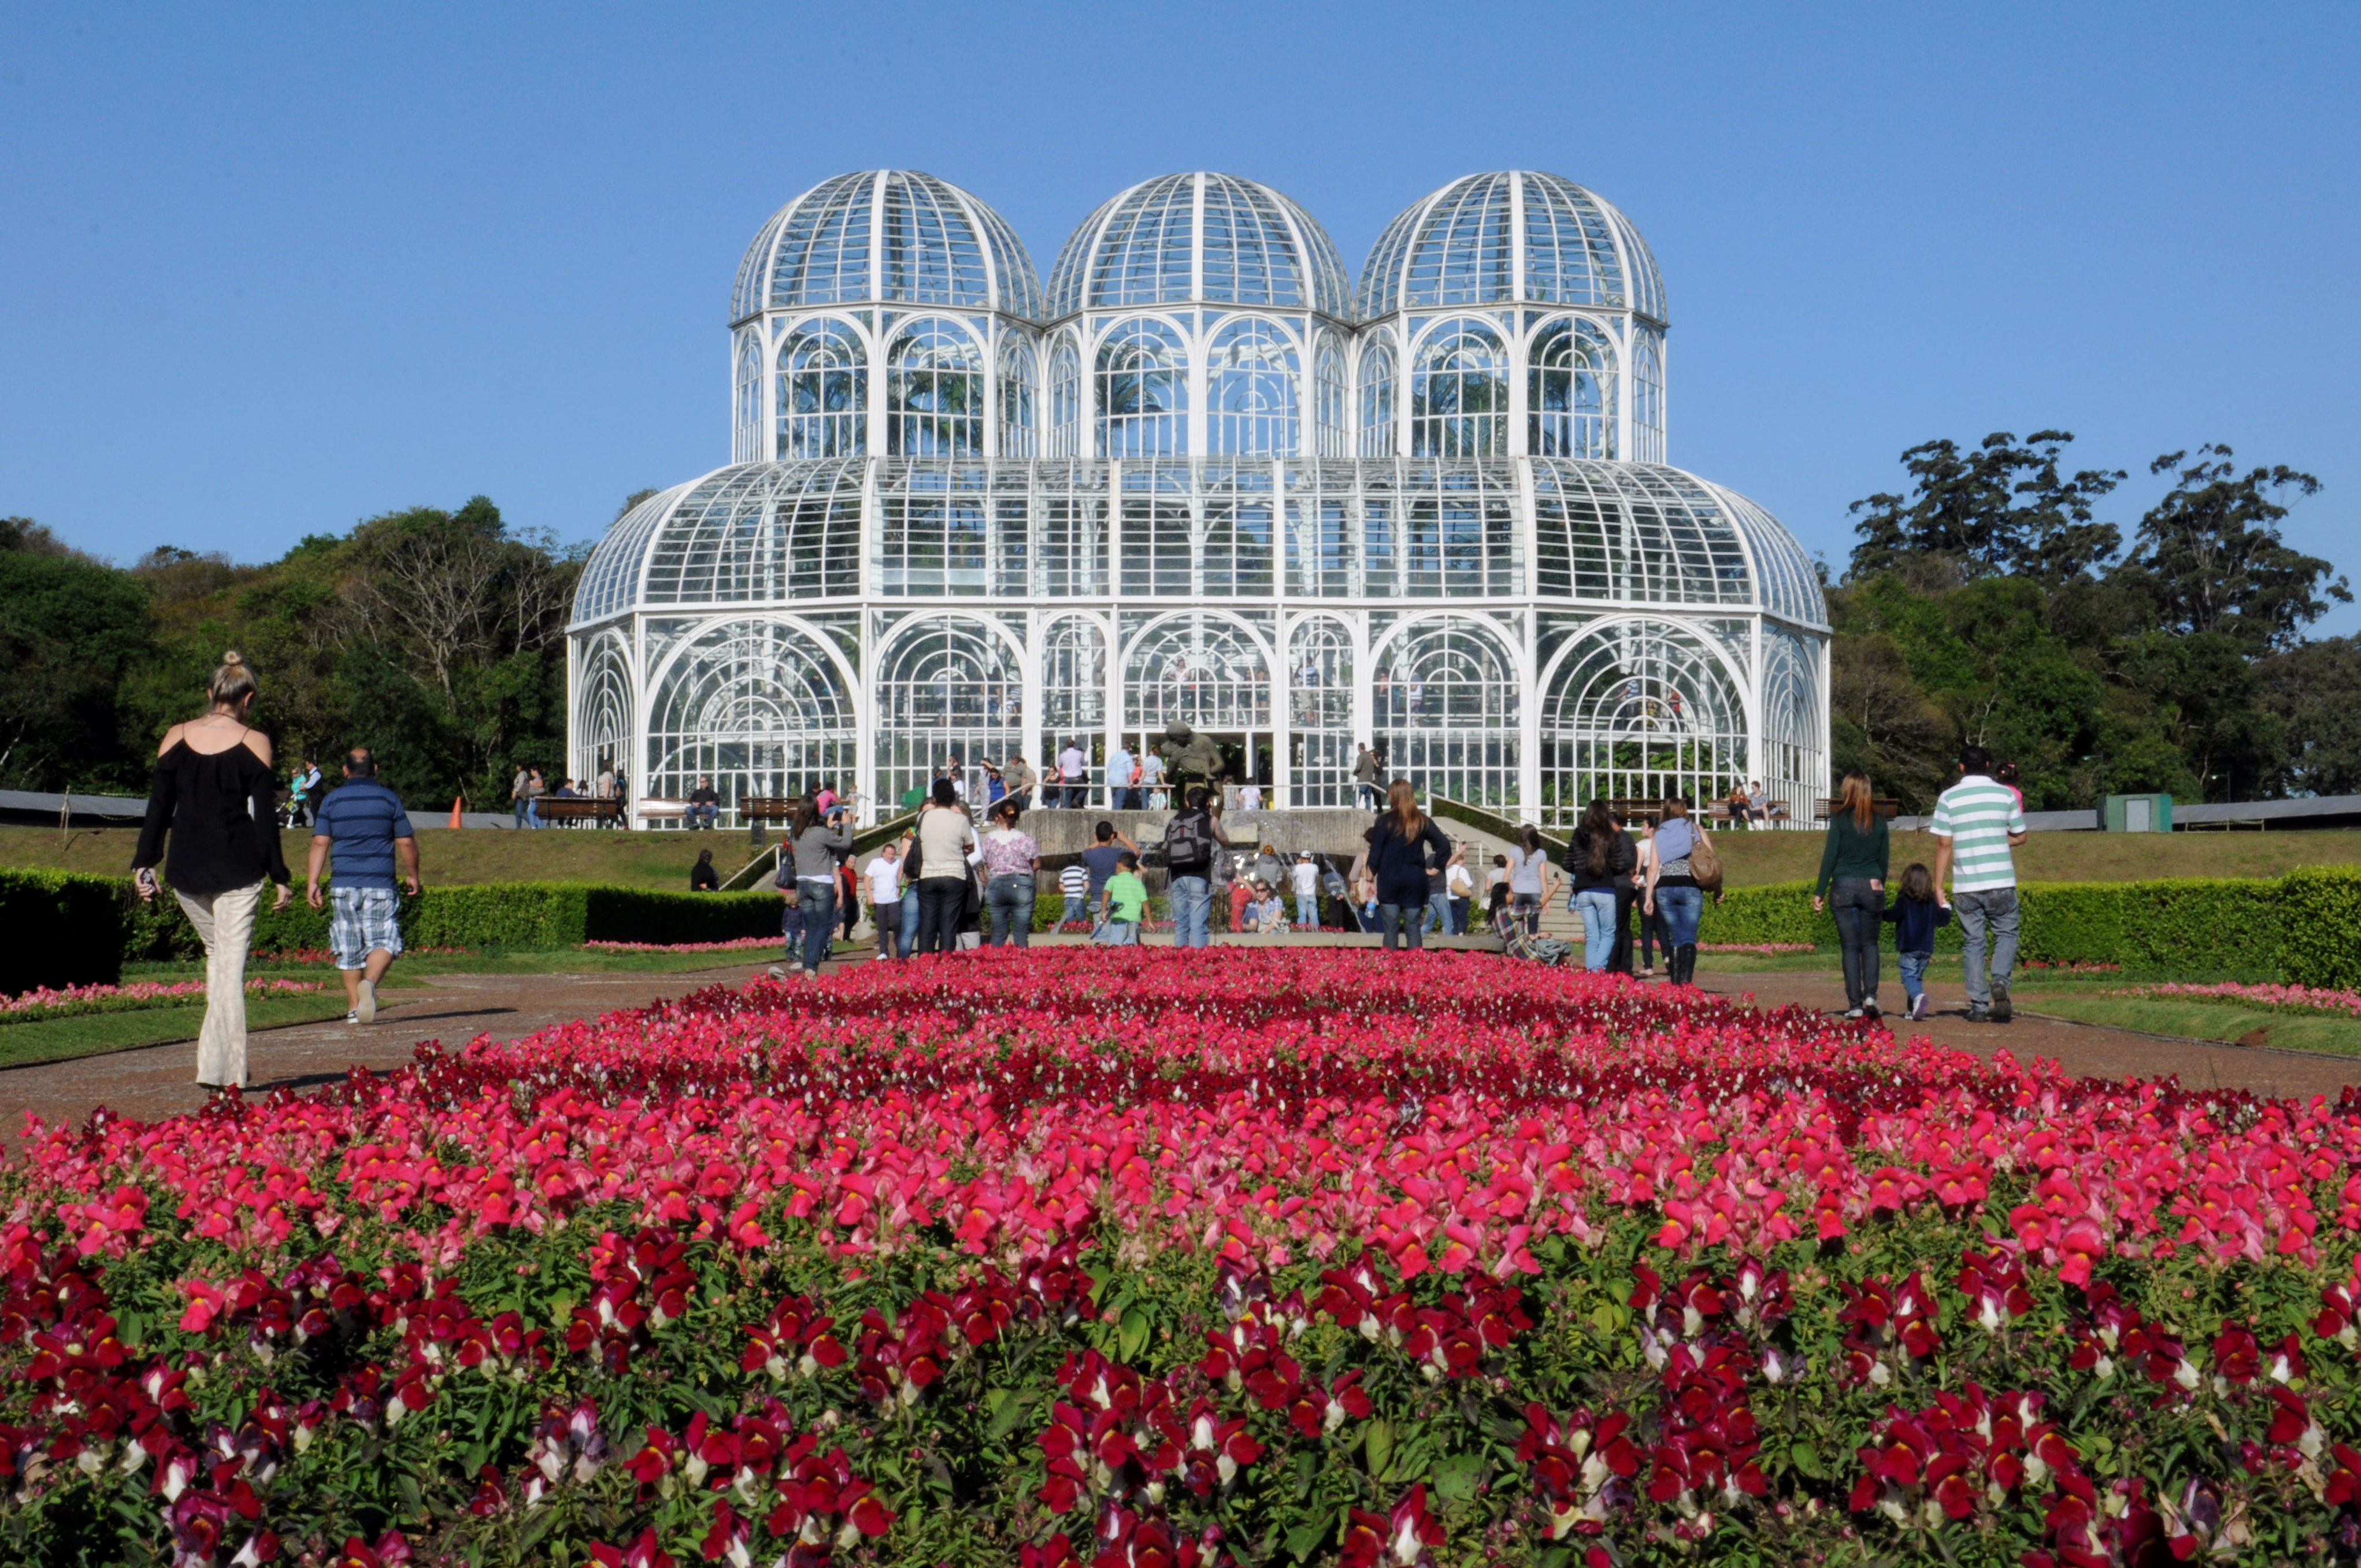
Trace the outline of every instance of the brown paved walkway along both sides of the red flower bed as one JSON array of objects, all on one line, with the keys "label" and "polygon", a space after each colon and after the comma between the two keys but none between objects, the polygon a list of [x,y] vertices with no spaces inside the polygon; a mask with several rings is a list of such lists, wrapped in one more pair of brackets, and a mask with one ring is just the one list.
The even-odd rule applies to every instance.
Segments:
[{"label": "brown paved walkway along both sides of the red flower bed", "polygon": [[[864,956],[855,952],[841,961]],[[446,1044],[479,1034],[517,1039],[574,1018],[637,1008],[708,985],[744,985],[763,968],[765,963],[727,963],[663,975],[437,975],[418,989],[387,992],[378,1023],[366,1030],[335,1020],[253,1034],[246,1046],[248,1072],[257,1093],[281,1086],[316,1089],[342,1079],[352,1065],[401,1067],[411,1060],[411,1046],[423,1039]],[[1832,973],[1698,971],[1698,985],[1724,997],[1752,994],[1764,1006],[1827,1008],[1842,999],[1842,982]],[[2361,1058],[2215,1046],[2026,1015],[2009,1025],[1971,1025],[1960,1013],[1960,997],[1945,997],[1943,987],[1936,987],[1936,1004],[1948,1011],[1927,1023],[1903,1023],[1891,1015],[1886,1023],[1896,1032],[1927,1034],[1979,1056],[2007,1046],[2019,1058],[2056,1058],[2068,1072],[2108,1079],[2177,1074],[2189,1086],[2330,1098],[2347,1084],[2361,1084]],[[0,1138],[14,1138],[28,1110],[52,1124],[78,1124],[99,1105],[142,1122],[196,1110],[205,1103],[205,1093],[191,1082],[194,1067],[196,1046],[179,1041],[0,1070]]]}]

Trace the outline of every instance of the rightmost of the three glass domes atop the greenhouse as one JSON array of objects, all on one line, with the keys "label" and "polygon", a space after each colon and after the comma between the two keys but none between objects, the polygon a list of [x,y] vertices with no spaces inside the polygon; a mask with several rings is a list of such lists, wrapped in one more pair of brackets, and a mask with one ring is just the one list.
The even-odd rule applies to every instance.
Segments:
[{"label": "rightmost of the three glass domes atop the greenhouse", "polygon": [[1639,229],[1558,175],[1466,175],[1376,236],[1360,316],[1452,305],[1629,307],[1665,321],[1665,279]]}]

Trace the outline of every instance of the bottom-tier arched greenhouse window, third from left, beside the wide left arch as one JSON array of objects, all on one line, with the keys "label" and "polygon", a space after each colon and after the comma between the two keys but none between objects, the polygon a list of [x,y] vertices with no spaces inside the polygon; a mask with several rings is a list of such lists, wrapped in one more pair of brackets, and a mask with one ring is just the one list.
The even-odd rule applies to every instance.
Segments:
[{"label": "bottom-tier arched greenhouse window, third from left, beside the wide left arch", "polygon": [[878,656],[876,682],[878,796],[928,789],[956,758],[968,796],[982,801],[982,760],[1020,744],[1025,680],[1008,638],[959,614],[904,621]]}]

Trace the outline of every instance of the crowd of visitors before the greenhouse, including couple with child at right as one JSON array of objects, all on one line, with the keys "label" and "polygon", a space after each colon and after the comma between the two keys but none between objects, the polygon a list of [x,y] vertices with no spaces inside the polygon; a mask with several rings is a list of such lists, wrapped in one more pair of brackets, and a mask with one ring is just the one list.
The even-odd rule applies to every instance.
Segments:
[{"label": "crowd of visitors before the greenhouse, including couple with child at right", "polygon": [[[1145,767],[1129,753],[1117,763]],[[1358,789],[1374,793],[1374,763],[1362,749],[1353,772]],[[1055,763],[1044,784],[1058,805],[1065,803],[1062,770],[1065,763]],[[911,829],[859,867],[850,801],[826,786],[798,801],[777,874],[789,963],[817,975],[836,930],[852,937],[862,897],[881,959],[961,945],[1025,947],[1036,897],[1046,890],[1041,845],[1022,827],[1034,782],[1020,775],[1025,786],[1008,789],[1006,770],[992,765],[985,779],[982,829],[966,798],[966,770],[949,758],[916,801]],[[1433,933],[1466,935],[1478,919],[1504,937],[1535,937],[1542,912],[1563,890],[1568,914],[1582,921],[1587,968],[1653,978],[1662,954],[1669,982],[1695,980],[1698,926],[1707,897],[1719,897],[1721,867],[1686,798],[1591,801],[1556,860],[1539,829],[1525,827],[1509,850],[1490,855],[1490,864],[1421,810],[1410,779],[1386,784],[1381,801],[1348,871],[1310,850],[1289,860],[1273,843],[1232,843],[1223,803],[1204,784],[1183,791],[1152,845],[1140,845],[1112,819],[1098,822],[1091,845],[1058,869],[1058,930],[1091,933],[1110,945],[1138,942],[1147,916],[1143,867],[1150,864],[1166,874],[1176,947],[1209,945],[1221,914],[1230,933],[1362,930],[1379,935],[1386,949],[1424,947]],[[1785,815],[1745,786],[1726,805],[1731,824],[1759,827]],[[1837,921],[1846,1015],[1882,1013],[1879,933],[1894,926],[1905,1008],[1924,1018],[1934,933],[1957,921],[1969,952],[1969,1018],[2004,1023],[2016,956],[2009,850],[2023,843],[2023,796],[2007,770],[1993,770],[1990,758],[1969,746],[1931,831],[1936,864],[1905,867],[1889,900],[1886,817],[1865,777],[1844,779],[1811,900]],[[711,860],[711,852],[699,855],[694,888],[718,886]]]}]

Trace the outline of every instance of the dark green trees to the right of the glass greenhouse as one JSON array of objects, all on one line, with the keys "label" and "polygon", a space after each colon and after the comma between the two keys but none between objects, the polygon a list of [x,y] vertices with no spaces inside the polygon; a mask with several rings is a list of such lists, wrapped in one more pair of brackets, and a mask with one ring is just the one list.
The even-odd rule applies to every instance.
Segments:
[{"label": "dark green trees to the right of the glass greenhouse", "polygon": [[2101,793],[2257,801],[2361,791],[2361,640],[2309,640],[2352,602],[2285,543],[2311,475],[2229,446],[2167,451],[2130,538],[2130,475],[2068,472],[2064,430],[1903,453],[1905,494],[1851,505],[1827,583],[1832,765],[1927,810],[1964,741],[2014,760],[2030,810]]}]

